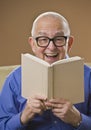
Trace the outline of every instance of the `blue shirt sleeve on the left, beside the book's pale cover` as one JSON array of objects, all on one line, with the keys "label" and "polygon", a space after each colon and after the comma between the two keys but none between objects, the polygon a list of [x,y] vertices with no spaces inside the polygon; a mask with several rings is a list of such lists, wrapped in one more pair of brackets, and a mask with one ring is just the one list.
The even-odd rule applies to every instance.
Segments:
[{"label": "blue shirt sleeve on the left, beside the book's pale cover", "polygon": [[[20,96],[20,74],[10,74],[0,93],[0,130],[24,130],[20,122],[22,104],[25,100]],[[24,106],[24,104],[23,104]]]}]

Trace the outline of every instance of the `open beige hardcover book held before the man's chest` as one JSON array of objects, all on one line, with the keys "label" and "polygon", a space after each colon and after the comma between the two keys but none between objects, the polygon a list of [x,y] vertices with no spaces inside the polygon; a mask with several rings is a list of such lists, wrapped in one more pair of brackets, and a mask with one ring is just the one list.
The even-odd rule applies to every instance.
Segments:
[{"label": "open beige hardcover book held before the man's chest", "polygon": [[45,95],[73,103],[84,101],[83,59],[75,56],[51,65],[31,54],[22,54],[22,96]]}]

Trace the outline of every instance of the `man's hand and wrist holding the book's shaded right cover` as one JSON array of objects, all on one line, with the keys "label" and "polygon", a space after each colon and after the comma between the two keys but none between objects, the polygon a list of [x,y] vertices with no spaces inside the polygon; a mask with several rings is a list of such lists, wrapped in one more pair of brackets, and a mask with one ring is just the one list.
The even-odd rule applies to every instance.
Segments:
[{"label": "man's hand and wrist holding the book's shaded right cover", "polygon": [[55,116],[74,127],[81,121],[80,112],[68,100],[51,99],[49,102],[46,102],[46,106],[52,108],[52,112]]}]

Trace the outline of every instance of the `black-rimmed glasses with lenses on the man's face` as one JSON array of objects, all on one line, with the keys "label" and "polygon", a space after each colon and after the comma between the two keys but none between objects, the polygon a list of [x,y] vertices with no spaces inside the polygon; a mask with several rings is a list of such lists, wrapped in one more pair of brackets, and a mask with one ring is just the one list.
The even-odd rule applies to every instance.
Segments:
[{"label": "black-rimmed glasses with lenses on the man's face", "polygon": [[67,36],[55,36],[54,38],[39,36],[34,39],[39,47],[47,47],[50,41],[52,41],[56,47],[62,47],[66,45]]}]

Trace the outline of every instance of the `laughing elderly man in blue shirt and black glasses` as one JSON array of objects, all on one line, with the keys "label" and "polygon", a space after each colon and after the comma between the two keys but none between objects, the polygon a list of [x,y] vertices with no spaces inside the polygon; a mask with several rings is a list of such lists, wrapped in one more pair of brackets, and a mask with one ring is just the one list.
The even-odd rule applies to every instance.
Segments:
[{"label": "laughing elderly man in blue shirt and black glasses", "polygon": [[[68,57],[73,36],[67,20],[56,12],[45,12],[33,22],[29,44],[34,54],[48,63]],[[31,72],[30,72],[31,73]],[[31,77],[30,77],[31,78]],[[1,130],[91,130],[91,69],[84,66],[85,101],[21,95],[21,67],[13,71],[0,95]],[[32,86],[33,87],[33,86]],[[52,109],[46,109],[52,107]]]}]

